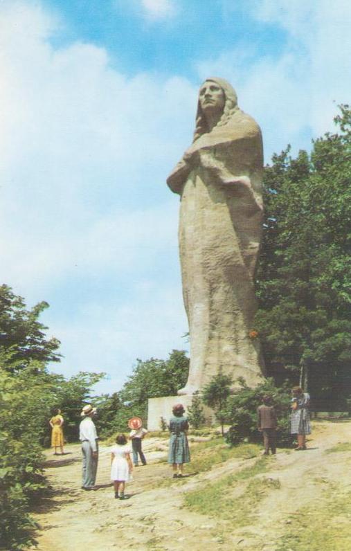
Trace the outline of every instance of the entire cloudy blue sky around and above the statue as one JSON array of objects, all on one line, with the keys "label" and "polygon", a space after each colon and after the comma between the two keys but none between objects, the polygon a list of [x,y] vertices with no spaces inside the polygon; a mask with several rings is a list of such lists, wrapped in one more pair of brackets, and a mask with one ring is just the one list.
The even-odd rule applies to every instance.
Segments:
[{"label": "entire cloudy blue sky around and above the statue", "polygon": [[179,199],[197,89],[228,79],[265,161],[332,129],[351,89],[346,0],[0,1],[2,282],[51,305],[53,370],[105,371],[186,349]]}]

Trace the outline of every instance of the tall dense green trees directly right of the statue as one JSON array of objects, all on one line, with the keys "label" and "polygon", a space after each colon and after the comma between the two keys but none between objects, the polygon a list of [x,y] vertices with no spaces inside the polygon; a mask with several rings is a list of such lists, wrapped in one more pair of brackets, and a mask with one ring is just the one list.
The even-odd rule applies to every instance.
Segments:
[{"label": "tall dense green trees directly right of the statue", "polygon": [[[265,170],[266,219],[256,328],[267,368],[312,398],[351,392],[351,111],[339,132],[296,159],[289,147]],[[340,404],[340,402],[339,402]]]}]

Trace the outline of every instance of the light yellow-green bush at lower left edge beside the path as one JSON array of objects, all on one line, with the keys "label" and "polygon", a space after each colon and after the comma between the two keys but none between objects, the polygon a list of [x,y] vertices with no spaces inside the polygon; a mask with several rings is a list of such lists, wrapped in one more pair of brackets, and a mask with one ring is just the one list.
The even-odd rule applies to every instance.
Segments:
[{"label": "light yellow-green bush at lower left edge beside the path", "polygon": [[21,373],[13,377],[0,370],[0,387],[0,541],[6,550],[19,550],[30,542],[34,526],[30,501],[46,487],[39,439],[50,406],[35,381]]}]

